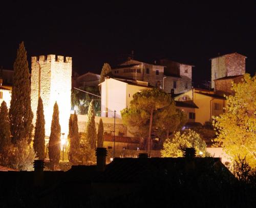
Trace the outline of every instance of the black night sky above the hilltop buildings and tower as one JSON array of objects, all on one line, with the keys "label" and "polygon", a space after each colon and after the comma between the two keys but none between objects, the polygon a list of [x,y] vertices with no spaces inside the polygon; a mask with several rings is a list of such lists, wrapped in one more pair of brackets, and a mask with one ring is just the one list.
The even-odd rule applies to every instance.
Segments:
[{"label": "black night sky above the hilltop buildings and tower", "polygon": [[[73,70],[100,73],[134,50],[135,59],[195,65],[193,81],[210,80],[209,58],[241,53],[256,71],[256,1],[13,1],[2,3],[0,65],[12,68],[18,43],[31,56],[73,57]],[[38,2],[38,3],[37,3]],[[86,1],[84,1],[86,2]]]}]

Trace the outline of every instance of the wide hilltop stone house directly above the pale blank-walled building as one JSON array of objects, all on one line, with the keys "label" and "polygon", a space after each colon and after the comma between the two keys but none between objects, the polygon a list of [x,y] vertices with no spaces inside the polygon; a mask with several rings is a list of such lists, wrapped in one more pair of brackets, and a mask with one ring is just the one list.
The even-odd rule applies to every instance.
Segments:
[{"label": "wide hilltop stone house directly above the pale blank-walled building", "polygon": [[129,59],[112,68],[114,77],[148,82],[152,86],[163,85],[164,66]]}]

